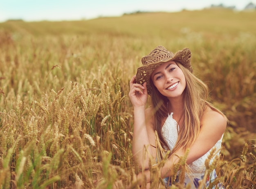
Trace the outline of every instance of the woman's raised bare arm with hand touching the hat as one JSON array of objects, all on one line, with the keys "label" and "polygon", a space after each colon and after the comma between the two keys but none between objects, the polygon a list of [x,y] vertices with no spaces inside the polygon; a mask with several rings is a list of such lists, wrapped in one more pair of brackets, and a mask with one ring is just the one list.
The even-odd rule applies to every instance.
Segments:
[{"label": "woman's raised bare arm with hand touching the hat", "polygon": [[[135,76],[130,80],[129,97],[134,108],[134,129],[132,135],[132,154],[135,161],[143,169],[148,168],[150,156],[155,156],[155,132],[151,108],[145,110],[148,93],[146,83],[135,82]],[[145,150],[148,153],[145,153]],[[145,156],[146,155],[146,156]]]}]

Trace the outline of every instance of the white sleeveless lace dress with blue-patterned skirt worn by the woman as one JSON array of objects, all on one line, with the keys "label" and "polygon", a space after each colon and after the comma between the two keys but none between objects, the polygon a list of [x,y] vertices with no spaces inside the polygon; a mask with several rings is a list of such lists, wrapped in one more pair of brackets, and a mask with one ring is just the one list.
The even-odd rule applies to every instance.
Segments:
[{"label": "white sleeveless lace dress with blue-patterned skirt worn by the woman", "polygon": [[[162,127],[162,134],[163,134],[164,140],[166,141],[166,144],[168,145],[168,148],[170,150],[173,149],[173,147],[177,141],[179,129],[180,129],[179,125],[177,125],[176,120],[173,119],[173,113],[168,114],[168,117],[166,118],[166,121],[164,122],[164,125]],[[222,137],[223,137],[223,135],[222,135]],[[218,140],[218,142],[214,145],[214,147],[219,151],[221,149],[221,143],[222,143],[222,138],[220,140]],[[189,173],[185,174],[184,187],[188,183],[191,183],[191,189],[198,189],[199,182],[200,182],[200,180],[203,179],[204,173],[206,170],[204,162],[207,159],[207,157],[209,156],[212,149],[210,149],[202,157],[198,158],[197,160],[195,160],[194,162],[192,162],[191,164],[188,165],[191,171]],[[218,155],[219,155],[219,152],[216,154],[216,156],[218,156]],[[213,170],[213,172],[210,174],[210,177],[207,178],[207,183],[205,183],[205,187],[208,187],[209,182],[210,181],[212,182],[213,180],[215,180],[216,177],[217,177],[216,171]],[[166,184],[166,186],[171,185],[170,183],[168,183],[168,180],[169,180],[169,177],[164,178],[164,183]],[[178,182],[178,177],[177,177],[176,181]],[[220,189],[222,188],[221,185],[220,186],[218,185],[218,187]]]}]

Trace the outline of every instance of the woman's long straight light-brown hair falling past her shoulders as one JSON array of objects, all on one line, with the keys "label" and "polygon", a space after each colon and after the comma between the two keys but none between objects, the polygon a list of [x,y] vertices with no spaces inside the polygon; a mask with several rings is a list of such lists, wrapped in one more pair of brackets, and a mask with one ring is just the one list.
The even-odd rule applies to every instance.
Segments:
[{"label": "woman's long straight light-brown hair falling past her shoulders", "polygon": [[[202,80],[195,77],[188,69],[183,67],[180,62],[175,61],[175,63],[184,73],[186,79],[186,87],[183,92],[183,122],[182,125],[180,125],[177,142],[173,150],[171,151],[171,154],[175,153],[175,151],[177,151],[178,149],[183,149],[185,151],[193,144],[200,132],[200,120],[207,106],[214,111],[218,111],[224,116],[221,111],[213,107],[213,105],[211,105],[211,103],[207,101],[209,95],[209,89],[207,85],[204,84]],[[150,80],[150,84],[152,86],[151,106],[155,116],[155,130],[158,133],[159,140],[162,146],[168,148],[162,135],[162,126],[164,120],[168,116],[168,99],[157,90],[152,80]]]}]

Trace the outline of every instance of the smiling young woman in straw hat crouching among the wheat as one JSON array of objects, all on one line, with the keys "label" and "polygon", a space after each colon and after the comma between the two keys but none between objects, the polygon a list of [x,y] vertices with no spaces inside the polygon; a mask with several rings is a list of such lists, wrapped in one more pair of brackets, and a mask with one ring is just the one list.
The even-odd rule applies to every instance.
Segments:
[{"label": "smiling young woman in straw hat crouching among the wheat", "polygon": [[[161,169],[166,186],[170,185],[173,165],[188,149],[189,171],[184,187],[190,183],[191,188],[198,188],[203,179],[204,162],[211,150],[220,151],[227,118],[207,102],[208,88],[192,74],[190,58],[188,48],[172,53],[158,46],[141,59],[143,65],[130,80],[129,97],[134,108],[132,153],[145,170],[138,178],[146,177],[147,182],[149,160],[157,157],[155,131],[162,147],[171,151]],[[146,109],[148,95],[151,106]],[[213,171],[204,186],[215,178]],[[176,181],[179,182],[178,177]]]}]

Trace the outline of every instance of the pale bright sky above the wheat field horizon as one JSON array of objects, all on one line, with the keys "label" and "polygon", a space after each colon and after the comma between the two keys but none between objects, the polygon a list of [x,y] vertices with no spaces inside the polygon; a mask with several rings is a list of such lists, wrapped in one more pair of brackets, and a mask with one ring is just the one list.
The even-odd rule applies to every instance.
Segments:
[{"label": "pale bright sky above the wheat field horizon", "polygon": [[241,10],[249,2],[256,4],[256,0],[0,0],[0,22],[81,20],[135,11],[199,10],[221,3]]}]

